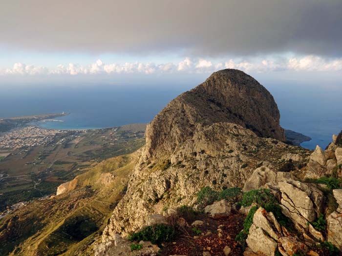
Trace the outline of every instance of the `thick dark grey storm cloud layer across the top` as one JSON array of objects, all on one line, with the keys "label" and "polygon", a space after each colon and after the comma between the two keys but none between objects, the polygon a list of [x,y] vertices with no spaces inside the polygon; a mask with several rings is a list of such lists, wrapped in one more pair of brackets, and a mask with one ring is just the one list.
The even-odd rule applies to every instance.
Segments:
[{"label": "thick dark grey storm cloud layer across the top", "polygon": [[342,0],[2,0],[0,46],[342,56]]}]

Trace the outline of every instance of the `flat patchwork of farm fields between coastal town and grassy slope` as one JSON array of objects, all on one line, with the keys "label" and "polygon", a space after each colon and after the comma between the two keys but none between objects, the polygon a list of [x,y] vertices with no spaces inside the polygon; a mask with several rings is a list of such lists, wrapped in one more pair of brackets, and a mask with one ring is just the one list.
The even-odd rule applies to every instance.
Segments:
[{"label": "flat patchwork of farm fields between coastal town and grassy slope", "polygon": [[145,127],[64,131],[42,145],[19,142],[17,148],[0,148],[0,212],[20,201],[55,194],[58,185],[98,162],[134,152],[145,143]]}]

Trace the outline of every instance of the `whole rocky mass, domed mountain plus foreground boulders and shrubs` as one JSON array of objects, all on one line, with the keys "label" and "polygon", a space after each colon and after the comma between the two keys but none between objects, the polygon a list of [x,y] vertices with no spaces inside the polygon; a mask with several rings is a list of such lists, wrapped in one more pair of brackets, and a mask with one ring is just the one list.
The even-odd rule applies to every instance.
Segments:
[{"label": "whole rocky mass, domed mountain plus foreground boulders and shrubs", "polygon": [[[272,95],[238,70],[215,72],[173,99],[148,125],[95,255],[338,255],[341,134],[311,152],[285,143],[279,118]],[[230,230],[232,215],[242,230]],[[190,238],[161,232],[164,242],[153,240],[161,223]],[[131,242],[149,237],[157,245]]]}]

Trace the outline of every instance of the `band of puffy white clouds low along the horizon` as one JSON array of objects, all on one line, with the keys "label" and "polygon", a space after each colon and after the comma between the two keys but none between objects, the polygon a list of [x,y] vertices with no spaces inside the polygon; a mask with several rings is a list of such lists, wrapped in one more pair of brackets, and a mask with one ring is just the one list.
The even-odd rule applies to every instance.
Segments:
[{"label": "band of puffy white clouds low along the horizon", "polygon": [[291,58],[268,59],[229,59],[225,62],[214,62],[209,59],[192,59],[190,57],[178,63],[154,62],[125,62],[104,63],[101,59],[89,65],[69,63],[60,64],[48,69],[43,66],[15,63],[12,68],[0,69],[0,75],[115,75],[115,74],[170,74],[170,73],[212,73],[223,68],[239,69],[245,72],[274,72],[274,71],[307,71],[307,72],[336,72],[342,71],[342,58],[321,58],[308,55]]}]

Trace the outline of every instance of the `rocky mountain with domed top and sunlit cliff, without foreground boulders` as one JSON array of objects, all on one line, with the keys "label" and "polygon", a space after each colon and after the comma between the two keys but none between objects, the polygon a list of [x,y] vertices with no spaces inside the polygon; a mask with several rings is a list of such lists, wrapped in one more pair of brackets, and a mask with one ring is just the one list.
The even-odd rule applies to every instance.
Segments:
[{"label": "rocky mountain with domed top and sunlit cliff, without foreground boulders", "polygon": [[151,214],[193,204],[205,186],[242,187],[260,164],[279,168],[285,152],[299,151],[283,140],[272,95],[242,71],[215,72],[148,125],[146,146],[103,241],[140,229]]}]

